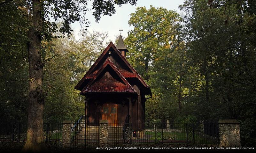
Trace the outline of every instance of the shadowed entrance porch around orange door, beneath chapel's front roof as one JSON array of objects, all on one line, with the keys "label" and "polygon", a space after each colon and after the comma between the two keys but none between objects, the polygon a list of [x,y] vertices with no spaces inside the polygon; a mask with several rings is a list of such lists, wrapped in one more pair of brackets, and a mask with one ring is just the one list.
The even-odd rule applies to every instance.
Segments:
[{"label": "shadowed entrance porch around orange door, beneath chapel's front roof", "polygon": [[[109,127],[122,127],[127,115],[130,115],[131,98],[128,94],[88,95],[85,104],[85,116],[88,123],[107,120]],[[132,96],[130,96],[132,97]],[[130,115],[131,116],[131,115]]]}]

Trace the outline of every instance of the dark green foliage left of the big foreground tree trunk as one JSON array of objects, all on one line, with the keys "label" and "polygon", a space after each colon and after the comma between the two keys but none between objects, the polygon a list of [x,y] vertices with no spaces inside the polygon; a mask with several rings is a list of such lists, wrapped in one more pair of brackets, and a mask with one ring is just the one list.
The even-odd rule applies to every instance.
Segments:
[{"label": "dark green foliage left of the big foreground tree trunk", "polygon": [[0,5],[0,116],[25,120],[27,112],[27,19],[23,1]]}]

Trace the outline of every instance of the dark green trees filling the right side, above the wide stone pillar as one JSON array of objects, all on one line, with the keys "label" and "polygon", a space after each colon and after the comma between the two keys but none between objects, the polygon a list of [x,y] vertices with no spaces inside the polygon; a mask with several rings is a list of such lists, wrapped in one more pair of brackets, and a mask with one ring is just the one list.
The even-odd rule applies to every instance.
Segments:
[{"label": "dark green trees filling the right side, above the wide stone pillar", "polygon": [[[255,145],[255,13],[251,1],[186,0],[180,8],[188,33],[184,110],[198,120],[238,119],[242,145]],[[192,68],[192,69],[191,69]],[[249,136],[250,135],[250,136]],[[250,140],[250,141],[248,141]]]}]

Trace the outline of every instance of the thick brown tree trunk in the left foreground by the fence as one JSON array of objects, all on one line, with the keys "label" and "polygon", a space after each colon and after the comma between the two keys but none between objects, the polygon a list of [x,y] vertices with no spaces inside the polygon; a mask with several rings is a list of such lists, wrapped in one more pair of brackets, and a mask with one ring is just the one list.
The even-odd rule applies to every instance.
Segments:
[{"label": "thick brown tree trunk in the left foreground by the fence", "polygon": [[33,16],[28,31],[29,101],[27,112],[27,141],[23,151],[43,152],[43,63],[41,59],[41,32],[43,2],[33,0]]}]

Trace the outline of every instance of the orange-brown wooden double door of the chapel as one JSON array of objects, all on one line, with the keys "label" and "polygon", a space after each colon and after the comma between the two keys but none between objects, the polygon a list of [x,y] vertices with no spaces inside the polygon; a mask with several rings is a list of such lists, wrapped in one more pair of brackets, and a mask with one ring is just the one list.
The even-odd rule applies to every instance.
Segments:
[{"label": "orange-brown wooden double door of the chapel", "polygon": [[109,126],[117,126],[117,104],[112,102],[103,104],[102,120],[108,120]]}]

